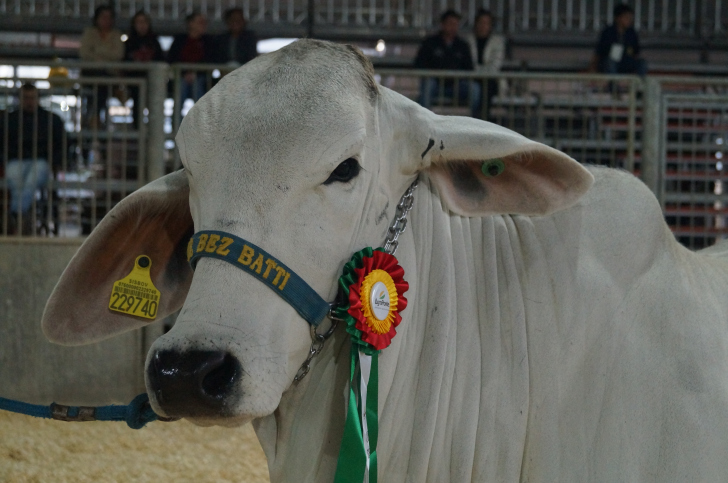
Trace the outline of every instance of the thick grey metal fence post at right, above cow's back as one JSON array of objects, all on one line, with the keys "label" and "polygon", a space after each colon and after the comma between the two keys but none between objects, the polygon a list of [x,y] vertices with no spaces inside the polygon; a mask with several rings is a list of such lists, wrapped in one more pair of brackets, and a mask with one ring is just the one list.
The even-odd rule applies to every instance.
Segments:
[{"label": "thick grey metal fence post at right, above cow's back", "polygon": [[[660,198],[662,166],[662,87],[657,79],[645,79],[642,111],[642,180]],[[662,200],[660,199],[660,203]]]}]

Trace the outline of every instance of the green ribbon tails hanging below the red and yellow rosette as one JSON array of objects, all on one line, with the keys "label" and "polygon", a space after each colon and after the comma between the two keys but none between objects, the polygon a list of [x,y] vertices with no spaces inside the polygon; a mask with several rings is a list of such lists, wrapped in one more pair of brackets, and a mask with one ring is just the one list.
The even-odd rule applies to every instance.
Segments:
[{"label": "green ribbon tails hanging below the red and yellow rosette", "polygon": [[[351,371],[349,374],[349,408],[344,425],[344,436],[341,439],[339,459],[336,463],[334,483],[363,483],[366,471],[366,450],[362,435],[362,423],[354,392],[356,366],[358,361],[356,344],[351,347]],[[367,384],[366,404],[367,430],[369,431],[369,483],[377,483],[377,439],[379,437],[379,362],[378,355],[372,355],[372,367]]]}]

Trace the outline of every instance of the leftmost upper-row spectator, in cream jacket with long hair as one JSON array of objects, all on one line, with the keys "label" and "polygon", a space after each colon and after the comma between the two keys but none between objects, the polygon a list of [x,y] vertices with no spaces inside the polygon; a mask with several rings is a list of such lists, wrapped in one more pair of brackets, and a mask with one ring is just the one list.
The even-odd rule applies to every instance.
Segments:
[{"label": "leftmost upper-row spectator, in cream jacket with long hair", "polygon": [[[81,60],[89,62],[118,62],[124,58],[124,42],[121,41],[121,31],[114,28],[114,10],[108,5],[100,5],[94,11],[94,24],[87,27],[81,37]],[[88,77],[110,77],[115,74],[106,69],[84,69],[83,75]],[[111,86],[98,84],[96,93],[96,108],[90,112],[92,124],[98,122],[101,111],[106,111],[106,101],[109,98]],[[87,103],[93,103],[93,99]]]}]

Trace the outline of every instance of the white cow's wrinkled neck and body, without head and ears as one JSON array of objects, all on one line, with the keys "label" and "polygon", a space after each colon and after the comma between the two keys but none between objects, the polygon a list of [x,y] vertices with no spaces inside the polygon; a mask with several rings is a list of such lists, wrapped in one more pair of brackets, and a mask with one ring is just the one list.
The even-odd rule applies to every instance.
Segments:
[{"label": "white cow's wrinkled neck and body, without head and ears", "polygon": [[[689,252],[639,180],[592,172],[545,217],[454,216],[422,180],[379,359],[379,481],[726,481],[728,245]],[[272,482],[333,481],[346,339],[254,422]]]}]

